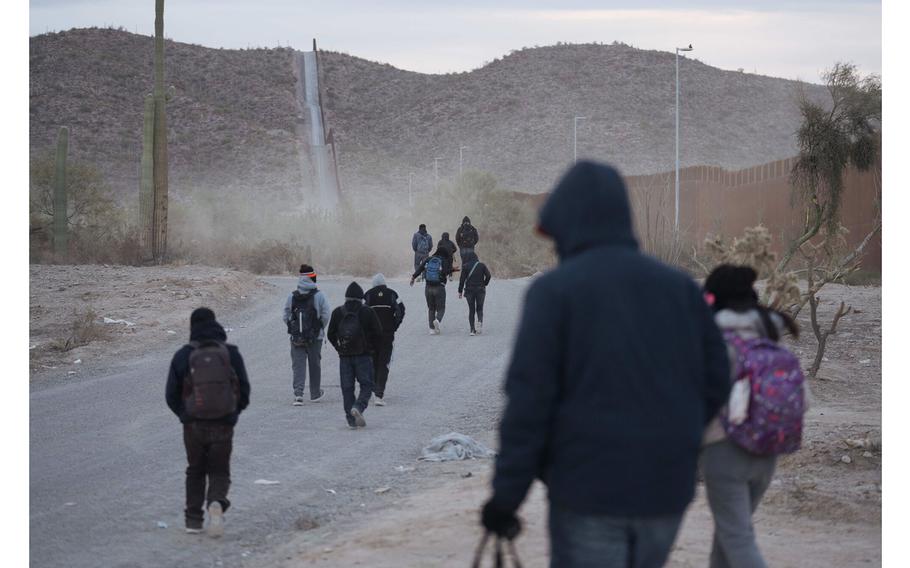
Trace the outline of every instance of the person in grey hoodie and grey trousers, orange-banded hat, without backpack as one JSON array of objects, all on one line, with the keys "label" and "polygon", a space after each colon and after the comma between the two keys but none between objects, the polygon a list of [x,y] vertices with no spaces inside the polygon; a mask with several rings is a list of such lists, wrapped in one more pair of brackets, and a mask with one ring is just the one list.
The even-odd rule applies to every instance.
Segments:
[{"label": "person in grey hoodie and grey trousers, orange-banded hat, without backpack", "polygon": [[295,293],[298,297],[313,295],[313,305],[319,325],[319,334],[309,345],[294,345],[291,337],[291,373],[293,374],[294,406],[303,405],[303,391],[306,387],[307,368],[310,371],[310,402],[319,402],[325,396],[322,385],[322,343],[325,340],[325,329],[329,325],[331,308],[325,294],[316,288],[316,271],[304,264],[300,267],[300,279],[297,290],[288,295],[284,305],[284,323],[291,321]]}]

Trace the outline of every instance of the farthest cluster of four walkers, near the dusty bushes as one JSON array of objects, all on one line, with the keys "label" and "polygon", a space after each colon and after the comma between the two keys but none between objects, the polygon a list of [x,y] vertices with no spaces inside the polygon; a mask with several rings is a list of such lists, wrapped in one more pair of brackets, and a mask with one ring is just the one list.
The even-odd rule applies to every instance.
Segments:
[{"label": "farthest cluster of four walkers, near the dusty bushes", "polygon": [[[469,334],[473,336],[483,331],[483,303],[492,275],[490,269],[480,261],[474,251],[478,240],[480,238],[477,229],[467,216],[462,219],[461,226],[455,233],[455,243],[449,240],[449,233],[443,233],[436,252],[432,255],[429,251],[433,248],[433,237],[427,232],[426,225],[421,224],[411,238],[411,248],[414,249],[414,274],[411,275],[411,286],[418,279],[426,283],[424,296],[427,300],[427,324],[430,335],[439,335],[442,331],[442,318],[446,312],[446,283],[452,279],[452,274],[458,271],[461,272],[458,298],[466,298],[468,302]],[[460,268],[456,267],[454,262],[459,247]]]}]

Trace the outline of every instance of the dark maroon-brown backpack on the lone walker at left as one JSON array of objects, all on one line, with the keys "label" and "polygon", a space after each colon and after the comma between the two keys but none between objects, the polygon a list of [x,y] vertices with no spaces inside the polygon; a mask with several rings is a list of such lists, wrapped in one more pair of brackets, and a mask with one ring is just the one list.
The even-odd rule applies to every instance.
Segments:
[{"label": "dark maroon-brown backpack on the lone walker at left", "polygon": [[189,373],[183,379],[183,408],[191,418],[215,420],[237,412],[240,381],[227,346],[191,341]]}]

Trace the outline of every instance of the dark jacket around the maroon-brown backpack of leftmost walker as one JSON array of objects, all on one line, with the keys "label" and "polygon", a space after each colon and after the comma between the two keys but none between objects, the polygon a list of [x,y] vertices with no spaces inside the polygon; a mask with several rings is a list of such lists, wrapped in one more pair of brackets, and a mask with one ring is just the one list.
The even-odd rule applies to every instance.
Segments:
[{"label": "dark jacket around the maroon-brown backpack of leftmost walker", "polygon": [[[224,328],[217,322],[206,322],[193,327],[190,333],[190,341],[202,341],[205,339],[216,339],[218,341],[227,341],[227,335]],[[243,357],[236,345],[227,343],[228,352],[231,354],[231,366],[237,373],[237,379],[240,382],[240,398],[237,401],[237,412],[212,422],[220,422],[233,426],[237,424],[237,417],[250,404],[250,381],[246,376],[246,367],[243,365]],[[197,419],[186,415],[183,407],[183,379],[190,371],[190,352],[193,347],[184,345],[171,359],[171,368],[167,375],[167,386],[165,387],[164,398],[168,407],[180,418],[180,422],[187,424]]]}]

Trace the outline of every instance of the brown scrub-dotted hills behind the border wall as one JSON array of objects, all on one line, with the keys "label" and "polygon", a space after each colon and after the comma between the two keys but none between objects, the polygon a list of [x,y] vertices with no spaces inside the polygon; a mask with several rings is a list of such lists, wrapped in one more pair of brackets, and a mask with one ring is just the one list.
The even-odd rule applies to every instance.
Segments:
[{"label": "brown scrub-dotted hills behind the border wall", "polygon": [[[120,195],[138,193],[142,99],[151,90],[152,38],[109,29],[30,40],[33,156],[56,127],[71,126],[74,157],[98,164]],[[225,50],[168,42],[171,187],[299,195],[303,179],[288,49]],[[506,187],[547,190],[579,157],[625,173],[672,167],[674,55],[622,44],[523,49],[466,73],[426,75],[320,52],[327,125],[349,195],[394,195],[465,169],[492,172]],[[680,65],[681,160],[737,168],[795,153],[797,83]],[[807,86],[810,96],[824,90]],[[305,170],[304,170],[305,171]]]}]

